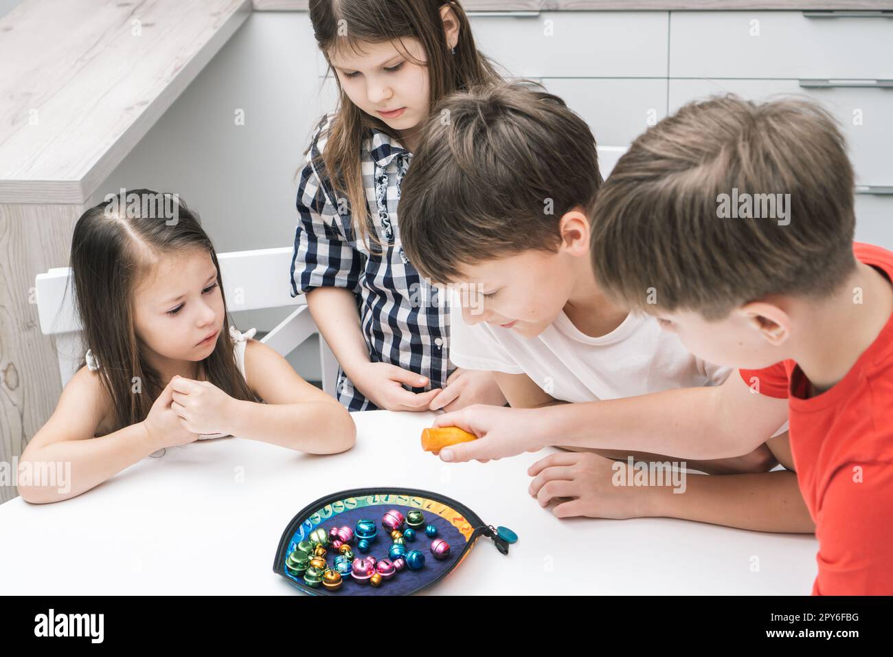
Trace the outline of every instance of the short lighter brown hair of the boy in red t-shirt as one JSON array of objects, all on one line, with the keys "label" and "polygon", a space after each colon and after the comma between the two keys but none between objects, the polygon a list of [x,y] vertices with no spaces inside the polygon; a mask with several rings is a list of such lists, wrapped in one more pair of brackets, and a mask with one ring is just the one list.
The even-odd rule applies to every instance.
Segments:
[{"label": "short lighter brown hair of the boy in red t-shirt", "polygon": [[[786,220],[754,216],[755,200],[779,194]],[[739,197],[750,218],[728,214]],[[627,306],[719,319],[770,294],[838,289],[855,266],[854,224],[853,169],[830,114],[803,99],[714,97],[622,156],[598,195],[591,257]]]}]

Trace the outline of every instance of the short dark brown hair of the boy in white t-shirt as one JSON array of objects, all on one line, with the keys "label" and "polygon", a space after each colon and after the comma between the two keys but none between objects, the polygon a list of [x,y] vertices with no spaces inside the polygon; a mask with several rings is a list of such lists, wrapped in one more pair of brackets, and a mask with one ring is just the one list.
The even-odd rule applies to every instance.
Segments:
[{"label": "short dark brown hair of the boy in white t-shirt", "polygon": [[526,80],[446,97],[423,128],[397,207],[406,255],[433,282],[462,265],[555,250],[558,219],[589,216],[596,139],[560,97]]}]

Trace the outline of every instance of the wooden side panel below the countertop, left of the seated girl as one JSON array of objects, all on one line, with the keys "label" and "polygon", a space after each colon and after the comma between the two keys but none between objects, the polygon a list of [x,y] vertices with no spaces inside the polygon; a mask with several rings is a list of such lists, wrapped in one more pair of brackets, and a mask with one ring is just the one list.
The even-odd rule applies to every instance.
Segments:
[{"label": "wooden side panel below the countertop, left of the seated girl", "polygon": [[[34,277],[68,262],[83,210],[0,205],[0,461],[21,456],[62,392],[53,341],[38,325]],[[0,486],[0,503],[17,494]]]}]

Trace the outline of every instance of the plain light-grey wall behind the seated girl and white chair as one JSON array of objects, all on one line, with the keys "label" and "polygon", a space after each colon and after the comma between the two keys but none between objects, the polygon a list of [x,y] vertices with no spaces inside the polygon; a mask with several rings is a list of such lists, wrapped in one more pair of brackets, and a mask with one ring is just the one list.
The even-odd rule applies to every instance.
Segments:
[{"label": "plain light-grey wall behind the seated girl and white chair", "polygon": [[[252,13],[91,198],[121,187],[179,193],[218,252],[290,246],[295,173],[323,100],[305,12]],[[238,109],[245,125],[236,125]],[[288,271],[281,273],[283,286]],[[239,328],[269,331],[287,310],[241,313]],[[318,347],[289,358],[319,380]]]}]

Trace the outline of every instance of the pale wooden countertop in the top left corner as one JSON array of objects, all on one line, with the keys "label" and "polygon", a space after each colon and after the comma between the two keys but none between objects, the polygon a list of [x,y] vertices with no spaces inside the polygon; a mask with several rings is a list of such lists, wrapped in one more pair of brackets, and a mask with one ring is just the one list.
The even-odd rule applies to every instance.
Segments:
[{"label": "pale wooden countertop in the top left corner", "polygon": [[250,12],[250,0],[25,0],[4,16],[0,203],[83,203]]}]

